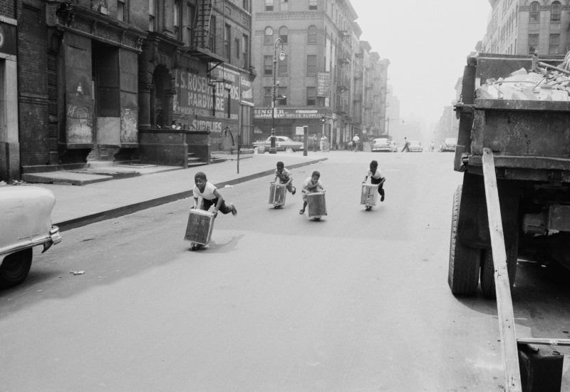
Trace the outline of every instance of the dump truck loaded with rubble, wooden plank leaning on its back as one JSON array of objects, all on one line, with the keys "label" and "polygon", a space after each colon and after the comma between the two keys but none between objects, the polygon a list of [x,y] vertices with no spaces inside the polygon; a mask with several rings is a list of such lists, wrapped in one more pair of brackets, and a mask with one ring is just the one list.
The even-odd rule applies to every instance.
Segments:
[{"label": "dump truck loaded with rubble, wooden plank leaning on its back", "polygon": [[[546,68],[559,63],[541,60]],[[497,298],[505,391],[521,391],[522,344],[570,345],[517,339],[510,296],[522,254],[570,270],[570,102],[477,94],[489,79],[535,66],[529,56],[470,56],[455,105],[454,170],[463,181],[453,199],[447,282],[455,295],[475,294],[481,284]]]}]

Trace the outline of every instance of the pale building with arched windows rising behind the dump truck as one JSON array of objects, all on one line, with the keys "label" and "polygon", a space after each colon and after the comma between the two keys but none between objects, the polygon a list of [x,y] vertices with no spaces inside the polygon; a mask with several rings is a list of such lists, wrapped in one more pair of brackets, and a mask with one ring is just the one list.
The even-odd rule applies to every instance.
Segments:
[{"label": "pale building with arched windows rising behind the dump truck", "polygon": [[492,11],[481,53],[564,56],[569,51],[570,9],[558,0],[489,0]]}]

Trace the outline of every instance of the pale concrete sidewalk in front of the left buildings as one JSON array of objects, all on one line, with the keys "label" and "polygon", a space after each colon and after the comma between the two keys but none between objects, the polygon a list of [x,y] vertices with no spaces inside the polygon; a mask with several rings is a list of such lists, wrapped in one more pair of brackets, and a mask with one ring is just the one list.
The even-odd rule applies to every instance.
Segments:
[{"label": "pale concrete sidewalk in front of the left buildings", "polygon": [[223,187],[270,175],[279,160],[284,161],[286,167],[294,168],[326,160],[327,156],[326,153],[312,152],[307,157],[302,153],[249,155],[252,158],[239,160],[239,174],[237,162],[232,160],[83,186],[30,185],[44,187],[56,195],[51,221],[65,231],[190,197],[197,172],[205,172],[210,182]]}]

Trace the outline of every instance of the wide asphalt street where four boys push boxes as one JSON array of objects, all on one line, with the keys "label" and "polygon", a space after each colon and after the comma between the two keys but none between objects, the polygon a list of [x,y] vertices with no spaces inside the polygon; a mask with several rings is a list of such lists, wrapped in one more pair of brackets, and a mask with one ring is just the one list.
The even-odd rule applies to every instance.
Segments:
[{"label": "wide asphalt street where four boys push boxes", "polygon": [[[34,249],[28,278],[0,292],[0,391],[500,391],[495,301],[447,285],[454,154],[321,155],[291,170],[279,210],[272,176],[220,189],[238,214],[219,214],[206,249],[183,240],[191,199]],[[373,159],[386,197],[366,212]],[[313,170],[320,222],[299,215]],[[569,337],[569,285],[551,269],[519,262],[519,337]]]}]

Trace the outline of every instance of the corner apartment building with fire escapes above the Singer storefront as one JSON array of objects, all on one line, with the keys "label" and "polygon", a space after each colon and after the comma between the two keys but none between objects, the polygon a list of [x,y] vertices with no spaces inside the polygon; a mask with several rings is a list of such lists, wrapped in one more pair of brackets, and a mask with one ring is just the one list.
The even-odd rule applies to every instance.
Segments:
[{"label": "corner apartment building with fire escapes above the Singer storefront", "polygon": [[265,140],[274,125],[276,135],[300,139],[296,128],[306,125],[311,140],[324,133],[333,148],[346,145],[357,18],[350,1],[263,0],[252,14],[256,138]]}]

